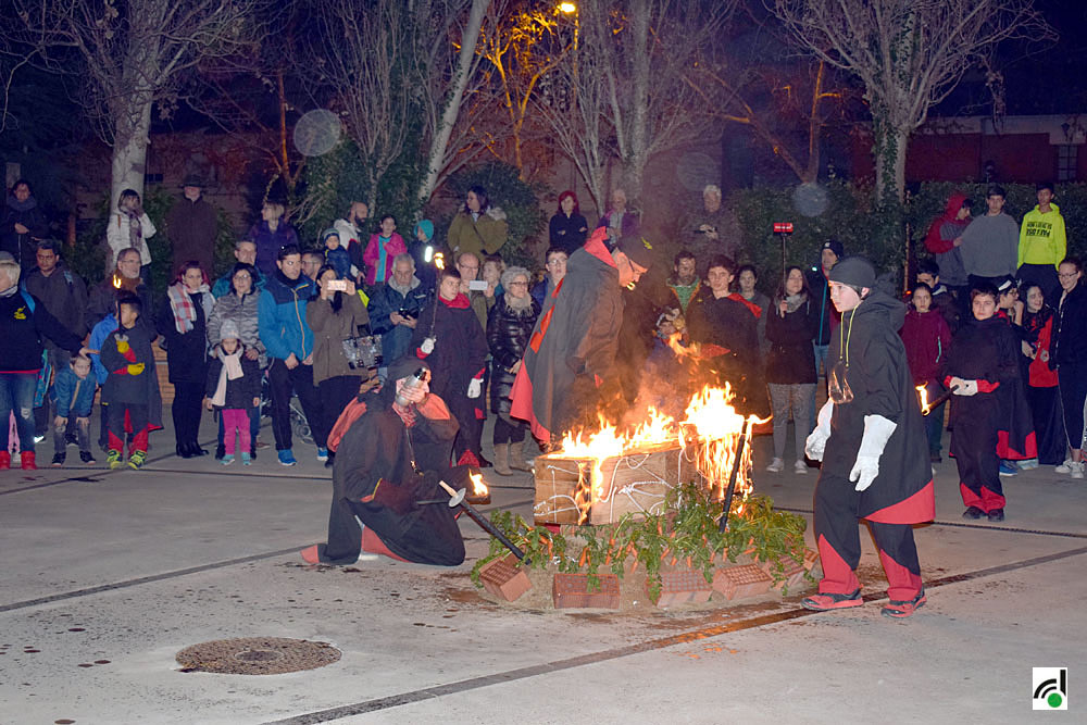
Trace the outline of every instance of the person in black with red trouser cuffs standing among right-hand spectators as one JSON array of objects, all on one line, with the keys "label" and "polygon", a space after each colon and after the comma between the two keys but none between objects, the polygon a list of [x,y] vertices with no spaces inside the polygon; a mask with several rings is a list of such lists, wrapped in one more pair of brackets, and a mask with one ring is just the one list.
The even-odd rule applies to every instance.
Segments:
[{"label": "person in black with red trouser cuffs standing among right-hand spectators", "polygon": [[966,504],[962,517],[992,522],[1004,520],[1000,459],[1012,458],[1014,451],[1037,452],[1034,421],[1026,420],[1029,407],[1017,400],[1023,395],[1015,385],[1020,339],[1008,318],[996,314],[998,297],[992,285],[971,291],[973,316],[963,321],[951,342],[944,379],[949,390],[954,389],[951,454]]}]

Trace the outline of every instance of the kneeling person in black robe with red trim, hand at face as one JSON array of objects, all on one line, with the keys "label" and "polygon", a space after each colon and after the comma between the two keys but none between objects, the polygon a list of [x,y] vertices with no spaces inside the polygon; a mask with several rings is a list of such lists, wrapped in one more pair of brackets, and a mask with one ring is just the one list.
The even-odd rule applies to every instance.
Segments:
[{"label": "kneeling person in black robe with red trim, hand at face", "polygon": [[328,542],[305,549],[305,561],[353,564],[363,549],[418,564],[464,561],[453,510],[418,503],[448,498],[439,480],[468,485],[466,467],[448,467],[457,421],[425,379],[413,385],[420,367],[428,377],[426,363],[402,359],[380,390],[365,395],[366,411],[337,447]]}]

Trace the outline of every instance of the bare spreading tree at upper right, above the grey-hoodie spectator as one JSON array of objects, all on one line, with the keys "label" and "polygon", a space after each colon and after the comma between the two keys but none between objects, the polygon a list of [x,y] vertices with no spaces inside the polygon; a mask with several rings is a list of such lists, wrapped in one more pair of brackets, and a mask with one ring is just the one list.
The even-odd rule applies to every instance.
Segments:
[{"label": "bare spreading tree at upper right, above the grey-hoodie spectator", "polygon": [[880,200],[903,199],[910,134],[967,68],[1003,40],[1053,37],[1034,0],[776,0],[774,10],[800,46],[863,82]]}]

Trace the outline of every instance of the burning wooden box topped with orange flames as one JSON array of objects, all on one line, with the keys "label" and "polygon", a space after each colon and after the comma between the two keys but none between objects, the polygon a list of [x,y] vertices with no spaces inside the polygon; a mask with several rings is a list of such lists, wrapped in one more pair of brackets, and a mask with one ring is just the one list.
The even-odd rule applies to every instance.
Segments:
[{"label": "burning wooden box topped with orange flames", "polygon": [[742,513],[752,490],[751,453],[750,447],[739,450],[745,417],[732,398],[727,386],[707,386],[691,398],[683,421],[650,409],[629,433],[601,420],[595,433],[567,435],[560,450],[536,460],[537,522],[598,524],[626,513],[662,513],[669,490],[695,479],[724,500],[737,454],[735,512]]}]

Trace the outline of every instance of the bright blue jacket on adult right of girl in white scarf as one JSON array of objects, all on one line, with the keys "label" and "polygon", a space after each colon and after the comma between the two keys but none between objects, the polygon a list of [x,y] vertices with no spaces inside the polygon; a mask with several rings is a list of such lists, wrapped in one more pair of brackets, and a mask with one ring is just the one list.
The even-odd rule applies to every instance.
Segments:
[{"label": "bright blue jacket on adult right of girl in white scarf", "polygon": [[299,362],[313,352],[313,330],[305,322],[305,305],[317,286],[304,274],[290,280],[276,270],[257,302],[257,326],[270,358]]}]

